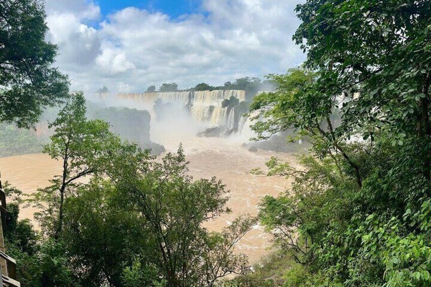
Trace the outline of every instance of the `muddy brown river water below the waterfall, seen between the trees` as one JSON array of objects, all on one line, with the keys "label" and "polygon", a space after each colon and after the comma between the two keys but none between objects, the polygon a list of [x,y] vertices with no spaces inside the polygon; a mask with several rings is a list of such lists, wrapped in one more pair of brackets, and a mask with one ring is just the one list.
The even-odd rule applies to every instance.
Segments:
[{"label": "muddy brown river water below the waterfall, seen between the trees", "polygon": [[[168,151],[175,151],[178,142],[170,140],[162,144]],[[205,227],[210,231],[222,230],[240,214],[256,215],[262,196],[278,195],[289,186],[289,181],[286,179],[255,176],[248,172],[256,167],[265,168],[265,162],[272,155],[294,163],[296,157],[293,154],[262,150],[250,152],[247,147],[241,146],[241,141],[220,138],[192,138],[181,142],[187,160],[190,161],[190,173],[194,178],[216,176],[230,190],[228,206],[232,209],[232,213],[206,222]],[[9,181],[26,195],[34,193],[38,187],[48,185],[48,180],[59,174],[60,170],[60,163],[51,160],[45,154],[0,158],[2,180]],[[20,217],[33,220],[34,212],[32,208],[23,208]],[[33,222],[37,226],[37,222]],[[237,248],[248,254],[251,263],[255,263],[268,252],[270,244],[270,236],[257,225],[238,243]]]}]

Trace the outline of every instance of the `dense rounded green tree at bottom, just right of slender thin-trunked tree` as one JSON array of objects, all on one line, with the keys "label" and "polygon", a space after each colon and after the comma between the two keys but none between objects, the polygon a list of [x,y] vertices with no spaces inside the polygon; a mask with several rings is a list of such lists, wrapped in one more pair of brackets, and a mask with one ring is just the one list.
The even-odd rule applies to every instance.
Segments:
[{"label": "dense rounded green tree at bottom, just right of slender thin-trunked tree", "polygon": [[[71,254],[70,268],[80,285],[123,286],[124,269],[138,264],[136,257],[143,259],[139,262],[142,269],[151,269],[150,264],[157,261],[148,227],[110,180],[94,177],[81,185],[76,196],[66,199],[64,213],[61,239]],[[159,272],[155,272],[145,278],[157,280]]]}]

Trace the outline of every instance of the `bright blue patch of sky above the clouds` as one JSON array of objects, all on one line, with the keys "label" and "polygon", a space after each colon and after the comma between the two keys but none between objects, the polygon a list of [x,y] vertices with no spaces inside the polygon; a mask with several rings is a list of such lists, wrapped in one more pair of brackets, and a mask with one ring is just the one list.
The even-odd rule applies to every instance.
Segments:
[{"label": "bright blue patch of sky above the clouds", "polygon": [[102,15],[115,13],[127,7],[136,7],[150,12],[162,12],[172,18],[200,10],[200,0],[98,0]]}]

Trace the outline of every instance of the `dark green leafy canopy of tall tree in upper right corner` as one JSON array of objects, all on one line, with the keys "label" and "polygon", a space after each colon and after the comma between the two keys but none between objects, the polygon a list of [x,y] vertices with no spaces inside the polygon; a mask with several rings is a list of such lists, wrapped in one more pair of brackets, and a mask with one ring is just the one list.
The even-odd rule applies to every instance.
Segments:
[{"label": "dark green leafy canopy of tall tree in upper right corner", "polygon": [[296,11],[302,24],[294,40],[308,53],[306,66],[321,70],[320,90],[346,97],[337,137],[358,131],[373,137],[383,125],[394,144],[419,135],[427,153],[423,173],[431,180],[431,4],[307,1]]}]

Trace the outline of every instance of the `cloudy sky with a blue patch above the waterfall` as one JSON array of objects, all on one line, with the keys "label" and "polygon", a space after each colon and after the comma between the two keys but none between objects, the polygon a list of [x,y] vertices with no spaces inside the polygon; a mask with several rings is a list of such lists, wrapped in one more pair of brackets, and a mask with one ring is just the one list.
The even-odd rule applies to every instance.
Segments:
[{"label": "cloudy sky with a blue patch above the waterfall", "polygon": [[47,40],[73,90],[143,92],[285,73],[302,0],[47,0]]}]

